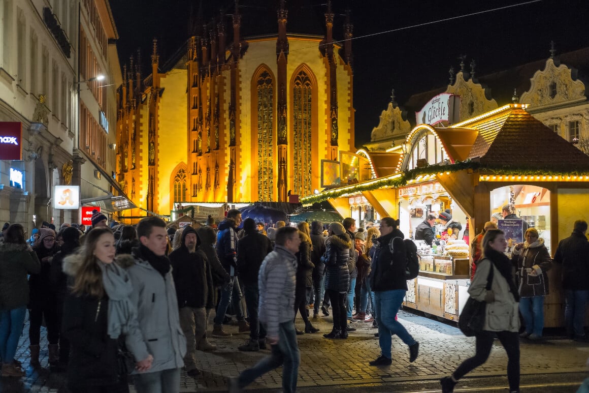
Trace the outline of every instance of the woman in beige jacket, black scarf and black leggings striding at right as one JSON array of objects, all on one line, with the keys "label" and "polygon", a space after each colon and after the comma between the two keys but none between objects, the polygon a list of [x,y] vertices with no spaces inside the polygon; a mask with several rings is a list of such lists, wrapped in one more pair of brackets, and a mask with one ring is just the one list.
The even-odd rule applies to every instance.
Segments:
[{"label": "woman in beige jacket, black scarf and black leggings striding at right", "polygon": [[[482,240],[482,259],[468,289],[472,298],[487,302],[485,323],[477,338],[477,352],[466,359],[450,376],[440,380],[442,392],[452,393],[458,379],[487,361],[495,336],[507,352],[509,392],[519,393],[519,313],[518,290],[511,274],[511,261],[505,256],[507,241],[499,230],[488,230]],[[493,269],[491,289],[487,277]]]}]

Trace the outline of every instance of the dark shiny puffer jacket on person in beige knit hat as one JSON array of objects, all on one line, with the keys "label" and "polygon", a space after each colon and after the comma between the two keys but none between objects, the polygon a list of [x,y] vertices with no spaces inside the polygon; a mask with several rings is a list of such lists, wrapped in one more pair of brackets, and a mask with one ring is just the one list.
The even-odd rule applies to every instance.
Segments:
[{"label": "dark shiny puffer jacket on person in beige knit hat", "polygon": [[331,235],[325,241],[325,256],[323,261],[327,267],[325,289],[339,293],[348,292],[350,286],[350,272],[348,261],[352,240],[348,234]]}]

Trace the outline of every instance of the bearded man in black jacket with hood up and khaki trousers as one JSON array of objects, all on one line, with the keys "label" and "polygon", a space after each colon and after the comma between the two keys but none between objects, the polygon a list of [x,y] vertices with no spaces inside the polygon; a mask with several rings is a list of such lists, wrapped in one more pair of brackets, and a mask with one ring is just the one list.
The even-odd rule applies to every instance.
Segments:
[{"label": "bearded man in black jacket with hood up and khaki trousers", "polygon": [[[182,231],[180,248],[172,251],[170,262],[178,298],[180,326],[186,336],[184,365],[186,374],[197,376],[196,348],[200,340],[206,340],[207,304],[213,300],[213,277],[204,253],[198,250],[200,238],[193,227]],[[209,304],[210,303],[210,304]],[[211,344],[207,342],[211,349]]]}]

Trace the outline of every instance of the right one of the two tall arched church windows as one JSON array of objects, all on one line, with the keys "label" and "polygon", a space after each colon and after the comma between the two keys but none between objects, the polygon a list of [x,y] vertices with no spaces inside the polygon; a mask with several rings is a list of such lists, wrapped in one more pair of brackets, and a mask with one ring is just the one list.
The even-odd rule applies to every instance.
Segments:
[{"label": "right one of the two tall arched church windows", "polygon": [[293,188],[299,195],[310,195],[312,194],[312,85],[305,71],[300,71],[294,78],[293,94]]}]

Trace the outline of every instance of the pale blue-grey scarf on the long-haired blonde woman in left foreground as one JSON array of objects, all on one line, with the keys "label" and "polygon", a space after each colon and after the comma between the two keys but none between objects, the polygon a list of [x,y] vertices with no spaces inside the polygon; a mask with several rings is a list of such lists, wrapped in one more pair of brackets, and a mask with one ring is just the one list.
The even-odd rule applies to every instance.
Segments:
[{"label": "pale blue-grey scarf on the long-haired blonde woman in left foreground", "polygon": [[[117,263],[98,263],[102,270],[102,285],[108,295],[108,336],[118,339],[128,333],[130,325],[137,321],[137,309],[129,296],[133,292],[127,271]],[[135,322],[136,323],[136,322]]]}]

